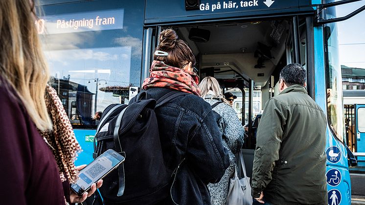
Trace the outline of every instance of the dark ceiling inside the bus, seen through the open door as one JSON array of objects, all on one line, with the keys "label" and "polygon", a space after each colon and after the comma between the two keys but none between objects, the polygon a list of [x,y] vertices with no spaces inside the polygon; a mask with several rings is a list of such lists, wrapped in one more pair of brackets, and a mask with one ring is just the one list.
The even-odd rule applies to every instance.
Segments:
[{"label": "dark ceiling inside the bus, seen through the open door", "polygon": [[[302,31],[304,23],[302,19]],[[174,29],[197,56],[201,73],[220,79],[244,80],[246,87],[252,79],[254,86],[260,88],[266,86],[287,51],[291,25],[289,18]],[[305,35],[302,37],[304,43]]]}]

